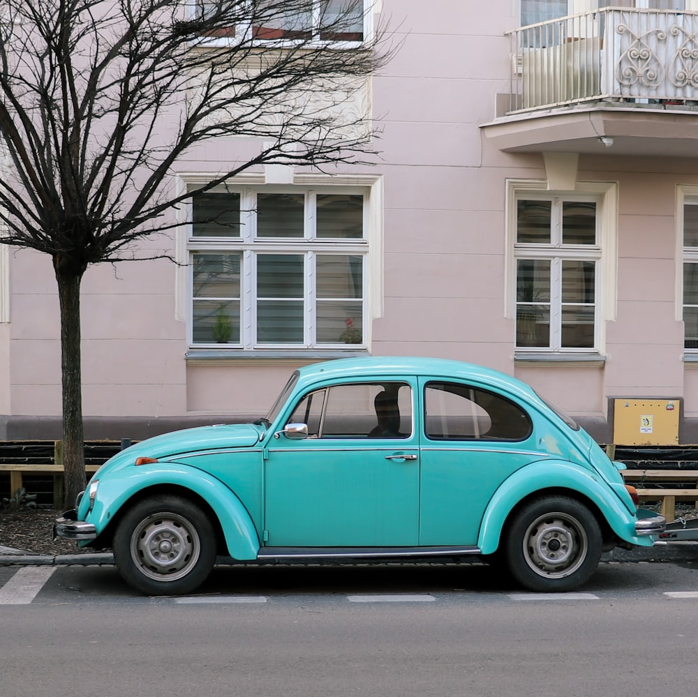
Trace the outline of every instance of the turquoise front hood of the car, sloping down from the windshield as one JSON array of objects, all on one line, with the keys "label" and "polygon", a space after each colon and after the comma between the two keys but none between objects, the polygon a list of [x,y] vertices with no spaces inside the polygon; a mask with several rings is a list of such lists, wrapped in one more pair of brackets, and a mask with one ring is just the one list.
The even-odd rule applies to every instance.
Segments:
[{"label": "turquoise front hood of the car, sloping down from the windshield", "polygon": [[264,426],[257,424],[220,424],[164,433],[117,453],[100,467],[95,477],[103,477],[106,472],[133,465],[136,458],[141,457],[176,460],[182,454],[202,450],[249,448],[257,444],[264,433]]}]

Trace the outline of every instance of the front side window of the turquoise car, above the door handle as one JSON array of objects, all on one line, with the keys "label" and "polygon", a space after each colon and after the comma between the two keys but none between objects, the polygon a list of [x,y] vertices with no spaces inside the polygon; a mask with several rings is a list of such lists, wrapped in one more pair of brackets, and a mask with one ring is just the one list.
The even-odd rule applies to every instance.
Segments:
[{"label": "front side window of the turquoise car, above the door handle", "polygon": [[332,385],[306,394],[289,423],[308,424],[311,437],[408,438],[412,389],[404,382]]}]

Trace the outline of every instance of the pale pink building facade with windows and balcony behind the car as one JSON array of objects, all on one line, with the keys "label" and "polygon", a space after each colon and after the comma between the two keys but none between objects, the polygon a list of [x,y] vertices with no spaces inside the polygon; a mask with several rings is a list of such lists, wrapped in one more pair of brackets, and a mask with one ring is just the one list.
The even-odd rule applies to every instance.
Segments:
[{"label": "pale pink building facade with windows and balcony behind the car", "polygon": [[[257,418],[293,368],[368,353],[516,375],[604,443],[617,399],[668,400],[698,442],[698,6],[606,4],[367,0],[399,45],[364,94],[380,157],[251,170],[144,243],[183,265],[89,269],[86,437]],[[50,259],[3,248],[0,439],[60,414]]]}]

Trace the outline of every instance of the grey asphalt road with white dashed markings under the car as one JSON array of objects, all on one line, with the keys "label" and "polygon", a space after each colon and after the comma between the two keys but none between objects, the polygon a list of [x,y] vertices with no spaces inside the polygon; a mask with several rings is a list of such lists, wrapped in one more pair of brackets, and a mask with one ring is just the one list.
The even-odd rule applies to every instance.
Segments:
[{"label": "grey asphalt road with white dashed markings under the car", "polygon": [[539,596],[481,565],[227,567],[154,599],[113,567],[3,567],[0,694],[691,695],[696,569],[602,564]]}]

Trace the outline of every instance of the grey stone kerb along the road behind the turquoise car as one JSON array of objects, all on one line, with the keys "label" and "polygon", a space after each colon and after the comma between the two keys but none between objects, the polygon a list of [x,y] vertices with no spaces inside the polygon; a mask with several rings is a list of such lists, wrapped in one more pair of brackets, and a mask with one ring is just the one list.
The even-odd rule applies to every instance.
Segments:
[{"label": "grey stone kerb along the road behind the turquoise car", "polygon": [[[475,562],[477,557],[473,557]],[[612,552],[601,555],[602,562],[696,562],[698,564],[698,542],[655,542],[652,547],[635,547],[625,550],[617,547]],[[466,562],[468,559],[466,558]],[[232,564],[230,557],[218,557],[217,564]],[[406,562],[409,563],[409,562]],[[104,553],[81,553],[48,555],[37,554],[22,549],[3,547],[0,545],[0,567],[10,566],[96,566],[99,564],[114,564],[114,555]]]}]

